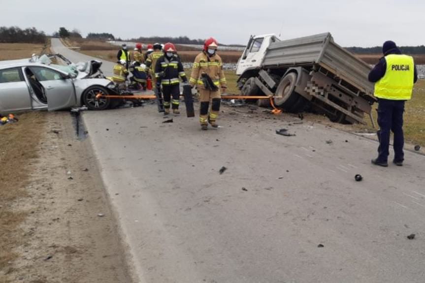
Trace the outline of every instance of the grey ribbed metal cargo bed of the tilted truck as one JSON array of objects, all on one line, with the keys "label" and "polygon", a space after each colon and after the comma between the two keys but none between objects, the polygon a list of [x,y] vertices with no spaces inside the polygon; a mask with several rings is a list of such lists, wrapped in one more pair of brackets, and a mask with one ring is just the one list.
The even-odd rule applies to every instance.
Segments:
[{"label": "grey ribbed metal cargo bed of the tilted truck", "polygon": [[367,80],[371,67],[321,33],[272,42],[264,56],[264,68],[320,65],[360,92],[373,96],[374,85]]}]

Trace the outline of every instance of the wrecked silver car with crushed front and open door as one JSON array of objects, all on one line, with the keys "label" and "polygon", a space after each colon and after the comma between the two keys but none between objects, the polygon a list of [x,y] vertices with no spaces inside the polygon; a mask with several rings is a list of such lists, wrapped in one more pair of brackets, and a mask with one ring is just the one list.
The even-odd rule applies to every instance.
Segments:
[{"label": "wrecked silver car with crushed front and open door", "polygon": [[[52,64],[52,59],[65,65]],[[0,62],[0,114],[48,109],[49,111],[86,105],[91,110],[110,107],[115,84],[104,78],[101,62],[73,64],[62,56]]]}]

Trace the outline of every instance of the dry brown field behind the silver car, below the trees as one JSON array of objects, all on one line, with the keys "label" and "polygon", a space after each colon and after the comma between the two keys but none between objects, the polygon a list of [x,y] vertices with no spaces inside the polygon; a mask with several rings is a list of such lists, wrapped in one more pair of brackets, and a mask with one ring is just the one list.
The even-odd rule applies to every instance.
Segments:
[{"label": "dry brown field behind the silver car, below the trees", "polygon": [[30,58],[46,47],[44,44],[0,43],[0,61]]}]

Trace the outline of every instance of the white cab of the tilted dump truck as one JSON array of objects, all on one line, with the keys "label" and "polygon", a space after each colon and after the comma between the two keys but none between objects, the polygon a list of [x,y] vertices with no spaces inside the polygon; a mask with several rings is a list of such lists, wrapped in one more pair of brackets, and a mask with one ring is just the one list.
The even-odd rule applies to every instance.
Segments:
[{"label": "white cab of the tilted dump truck", "polygon": [[280,39],[272,33],[251,36],[245,51],[237,62],[236,75],[240,76],[247,69],[260,67],[267,47],[275,41],[280,41]]}]

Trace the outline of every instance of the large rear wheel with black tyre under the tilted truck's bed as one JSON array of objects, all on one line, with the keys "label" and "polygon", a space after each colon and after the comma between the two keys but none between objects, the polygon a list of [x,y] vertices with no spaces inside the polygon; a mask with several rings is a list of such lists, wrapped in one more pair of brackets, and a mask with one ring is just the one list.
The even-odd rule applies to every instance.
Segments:
[{"label": "large rear wheel with black tyre under the tilted truck's bed", "polygon": [[277,86],[274,104],[282,107],[288,112],[297,113],[304,109],[307,99],[297,94],[295,90],[297,74],[290,72],[286,74]]}]

